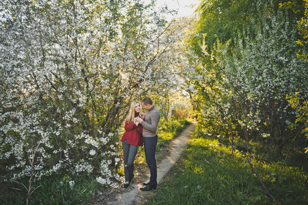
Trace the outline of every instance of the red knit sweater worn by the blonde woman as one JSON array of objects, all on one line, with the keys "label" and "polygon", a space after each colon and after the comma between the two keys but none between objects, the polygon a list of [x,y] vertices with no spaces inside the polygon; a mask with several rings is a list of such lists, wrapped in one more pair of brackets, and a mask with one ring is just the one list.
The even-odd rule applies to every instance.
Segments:
[{"label": "red knit sweater worn by the blonde woman", "polygon": [[[135,115],[135,118],[138,117],[139,114]],[[134,122],[128,123],[127,121],[125,122],[125,132],[124,135],[121,139],[121,141],[124,141],[127,139],[126,143],[135,145],[135,146],[143,146],[143,137],[142,137],[142,124],[134,124]]]}]

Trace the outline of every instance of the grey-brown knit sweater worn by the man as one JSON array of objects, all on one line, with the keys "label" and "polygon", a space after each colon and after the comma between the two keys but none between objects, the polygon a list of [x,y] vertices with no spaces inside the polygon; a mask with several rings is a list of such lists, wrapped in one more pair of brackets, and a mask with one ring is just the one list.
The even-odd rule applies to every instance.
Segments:
[{"label": "grey-brown knit sweater worn by the man", "polygon": [[143,125],[142,135],[143,137],[155,137],[158,122],[160,119],[159,111],[154,105],[145,113],[145,118],[141,124]]}]

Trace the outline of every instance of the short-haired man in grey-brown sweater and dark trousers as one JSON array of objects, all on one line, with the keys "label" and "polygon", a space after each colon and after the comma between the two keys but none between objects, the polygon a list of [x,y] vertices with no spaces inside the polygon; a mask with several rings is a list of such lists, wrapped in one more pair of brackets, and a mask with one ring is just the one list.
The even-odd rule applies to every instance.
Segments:
[{"label": "short-haired man in grey-brown sweater and dark trousers", "polygon": [[142,135],[145,150],[145,159],[150,169],[150,182],[143,183],[146,187],[140,188],[141,191],[151,191],[157,187],[157,169],[155,160],[155,149],[158,140],[156,134],[160,115],[158,110],[154,107],[150,98],[144,98],[141,101],[142,107],[147,111],[145,113],[144,121],[141,118],[137,118],[137,122],[143,126]]}]

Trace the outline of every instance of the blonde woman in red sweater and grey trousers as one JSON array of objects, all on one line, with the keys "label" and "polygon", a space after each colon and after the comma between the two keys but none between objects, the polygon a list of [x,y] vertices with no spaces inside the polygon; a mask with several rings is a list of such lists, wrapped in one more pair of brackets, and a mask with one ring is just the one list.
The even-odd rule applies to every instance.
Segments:
[{"label": "blonde woman in red sweater and grey trousers", "polygon": [[137,118],[144,119],[141,112],[140,102],[134,101],[130,104],[130,109],[125,121],[125,132],[121,139],[124,154],[124,188],[134,177],[134,161],[137,154],[138,146],[143,146],[142,125],[137,122]]}]

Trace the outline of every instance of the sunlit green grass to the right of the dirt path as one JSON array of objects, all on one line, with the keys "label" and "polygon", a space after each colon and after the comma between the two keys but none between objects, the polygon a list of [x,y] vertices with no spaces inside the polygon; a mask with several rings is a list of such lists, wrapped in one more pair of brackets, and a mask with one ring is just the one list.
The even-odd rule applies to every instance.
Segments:
[{"label": "sunlit green grass to the right of the dirt path", "polygon": [[253,164],[276,202],[262,191],[244,152],[230,155],[218,140],[193,135],[145,204],[308,204],[303,170],[264,161]]}]

